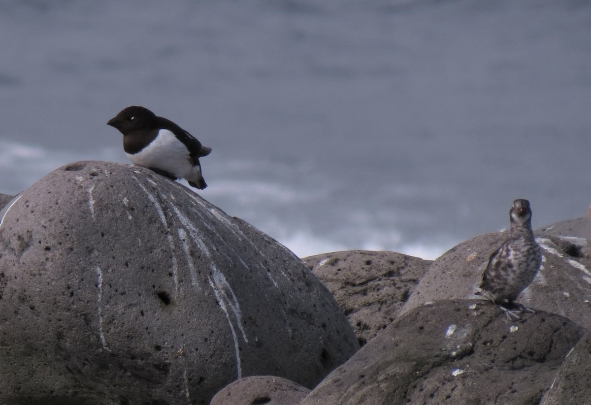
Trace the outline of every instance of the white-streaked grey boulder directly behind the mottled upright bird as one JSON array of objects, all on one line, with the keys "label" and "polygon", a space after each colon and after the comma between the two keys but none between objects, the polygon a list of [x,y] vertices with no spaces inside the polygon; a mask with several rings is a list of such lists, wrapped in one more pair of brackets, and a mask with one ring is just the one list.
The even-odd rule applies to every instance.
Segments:
[{"label": "white-streaked grey boulder directly behind the mottled upright bird", "polygon": [[[567,316],[591,328],[591,218],[564,221],[535,231],[543,262],[534,282],[517,301],[534,309]],[[489,256],[505,232],[473,237],[436,259],[402,308],[410,311],[437,299],[470,299],[478,290]]]}]

